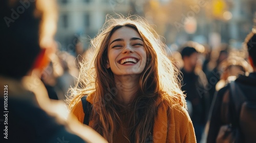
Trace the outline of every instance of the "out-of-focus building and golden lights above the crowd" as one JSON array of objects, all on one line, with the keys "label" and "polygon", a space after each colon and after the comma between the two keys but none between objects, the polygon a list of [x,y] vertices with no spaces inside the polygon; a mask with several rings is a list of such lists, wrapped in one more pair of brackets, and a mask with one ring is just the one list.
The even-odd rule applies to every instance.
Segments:
[{"label": "out-of-focus building and golden lights above the crowd", "polygon": [[[254,0],[58,0],[56,40],[61,51],[76,55],[88,49],[106,14],[145,17],[170,50],[188,40],[210,49],[227,43],[240,49],[253,27]],[[77,43],[81,41],[81,44]],[[79,48],[79,49],[77,49]]]}]

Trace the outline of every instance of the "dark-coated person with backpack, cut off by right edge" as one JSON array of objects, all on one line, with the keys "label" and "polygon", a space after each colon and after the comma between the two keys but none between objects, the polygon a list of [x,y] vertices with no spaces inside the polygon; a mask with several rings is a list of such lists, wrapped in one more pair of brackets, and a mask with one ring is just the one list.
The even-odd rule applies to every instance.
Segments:
[{"label": "dark-coated person with backpack, cut off by right edge", "polygon": [[[254,30],[255,32],[255,30]],[[255,103],[256,103],[256,34],[251,32],[245,39],[245,44],[247,47],[247,51],[249,53],[249,63],[252,66],[252,73],[249,76],[240,75],[236,80],[234,80],[234,85],[236,85],[235,89],[239,89],[238,91],[241,92],[232,92],[230,84],[228,83],[225,87],[221,88],[218,93],[215,95],[215,99],[212,102],[212,111],[210,113],[210,122],[209,122],[209,129],[208,129],[208,136],[207,142],[218,142],[223,140],[222,138],[222,127],[223,125],[229,125],[232,129],[236,130],[236,135],[232,134],[232,139],[236,139],[234,142],[255,142],[255,114],[250,117],[250,121],[253,121],[254,116],[254,123],[252,124],[249,122],[250,125],[244,126],[245,124],[241,125],[241,117],[240,112],[237,110],[239,107],[239,111],[242,110],[242,104],[244,102],[244,98],[254,103],[254,111],[255,113]],[[238,63],[241,61],[237,61]],[[235,66],[233,66],[235,67]],[[237,66],[237,68],[243,68],[243,66]],[[242,69],[246,71],[246,69]],[[237,72],[237,71],[235,71]],[[238,93],[240,99],[233,99],[234,95],[231,94]],[[232,98],[230,98],[230,96]],[[238,104],[240,101],[241,103]],[[238,115],[237,115],[238,114]],[[246,116],[248,117],[248,116]],[[249,118],[248,118],[249,119]],[[229,129],[228,129],[229,130]],[[229,131],[229,132],[231,132]],[[226,136],[228,137],[228,136]],[[248,141],[250,140],[250,141]]]}]

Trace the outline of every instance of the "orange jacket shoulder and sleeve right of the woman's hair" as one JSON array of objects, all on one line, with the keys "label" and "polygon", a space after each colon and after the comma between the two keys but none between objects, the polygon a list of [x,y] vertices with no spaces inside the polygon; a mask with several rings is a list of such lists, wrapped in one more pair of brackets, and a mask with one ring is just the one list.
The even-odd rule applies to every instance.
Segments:
[{"label": "orange jacket shoulder and sleeve right of the woman's hair", "polygon": [[164,128],[166,125],[171,126],[172,128],[168,128],[170,138],[177,137],[177,140],[181,138],[187,140],[187,136],[189,136],[188,138],[195,140],[193,124],[183,103],[169,101],[169,99],[165,98],[161,99],[155,125],[158,126],[156,129],[159,129],[159,127]]}]

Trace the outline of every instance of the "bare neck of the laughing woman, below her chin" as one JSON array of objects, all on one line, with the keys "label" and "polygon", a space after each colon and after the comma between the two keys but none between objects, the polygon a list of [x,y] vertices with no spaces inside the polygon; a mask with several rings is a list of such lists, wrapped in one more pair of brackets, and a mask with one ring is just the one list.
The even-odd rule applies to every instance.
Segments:
[{"label": "bare neck of the laughing woman, below her chin", "polygon": [[139,89],[139,76],[115,76],[117,98],[123,105],[129,105]]}]

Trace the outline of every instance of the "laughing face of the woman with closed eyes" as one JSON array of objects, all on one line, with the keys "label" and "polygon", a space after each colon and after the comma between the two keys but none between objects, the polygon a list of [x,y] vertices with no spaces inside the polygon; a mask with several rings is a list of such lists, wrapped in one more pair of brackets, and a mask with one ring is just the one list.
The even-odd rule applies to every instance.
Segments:
[{"label": "laughing face of the woman with closed eyes", "polygon": [[145,65],[146,52],[138,32],[130,27],[116,30],[108,44],[107,68],[116,76],[139,75]]}]

